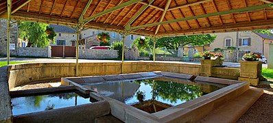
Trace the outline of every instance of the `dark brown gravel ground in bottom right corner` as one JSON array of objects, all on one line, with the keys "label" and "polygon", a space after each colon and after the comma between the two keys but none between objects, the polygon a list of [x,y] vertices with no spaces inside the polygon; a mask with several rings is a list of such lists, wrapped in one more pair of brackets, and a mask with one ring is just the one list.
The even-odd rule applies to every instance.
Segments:
[{"label": "dark brown gravel ground in bottom right corner", "polygon": [[237,123],[273,122],[273,90],[263,90],[263,95]]}]

